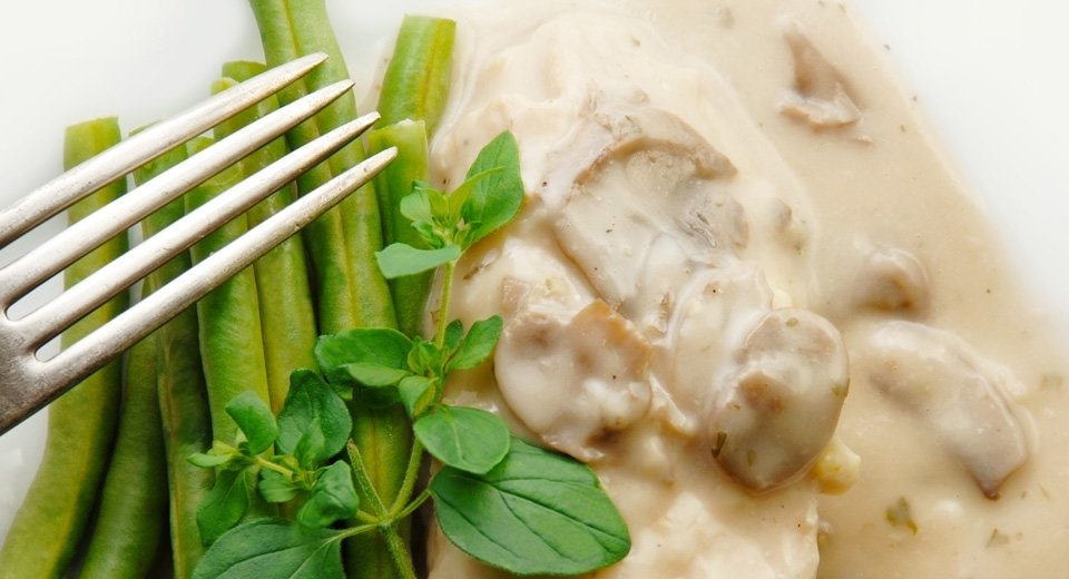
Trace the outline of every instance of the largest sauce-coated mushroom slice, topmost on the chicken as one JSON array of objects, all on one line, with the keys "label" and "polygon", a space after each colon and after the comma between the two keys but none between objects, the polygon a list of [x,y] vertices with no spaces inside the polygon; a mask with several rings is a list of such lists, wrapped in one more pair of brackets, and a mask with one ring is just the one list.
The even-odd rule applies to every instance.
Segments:
[{"label": "largest sauce-coated mushroom slice, topmost on the chicken", "polygon": [[718,183],[734,167],[678,117],[628,108],[598,118],[577,137],[597,153],[553,232],[598,294],[639,322],[695,269],[745,245],[746,223]]}]

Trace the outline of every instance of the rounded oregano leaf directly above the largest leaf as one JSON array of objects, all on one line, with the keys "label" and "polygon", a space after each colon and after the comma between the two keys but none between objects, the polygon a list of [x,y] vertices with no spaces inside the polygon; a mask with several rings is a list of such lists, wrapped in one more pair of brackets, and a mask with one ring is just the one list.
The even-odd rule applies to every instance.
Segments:
[{"label": "rounded oregano leaf directly above the largest leaf", "polygon": [[443,405],[412,428],[435,459],[463,471],[484,473],[509,452],[509,428],[484,410]]}]

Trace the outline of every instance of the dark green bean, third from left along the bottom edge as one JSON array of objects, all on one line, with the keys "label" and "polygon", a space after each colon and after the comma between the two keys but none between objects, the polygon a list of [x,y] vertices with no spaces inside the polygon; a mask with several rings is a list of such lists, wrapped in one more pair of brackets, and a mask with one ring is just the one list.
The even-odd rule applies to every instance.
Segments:
[{"label": "dark green bean, third from left along the bottom edge", "polygon": [[[134,171],[140,185],[186,159],[185,145]],[[185,215],[183,199],[175,199],[141,222],[143,237],[151,237]],[[159,287],[192,266],[188,252],[182,252],[149,276]],[[186,457],[203,452],[212,444],[212,421],[208,392],[200,370],[197,311],[190,306],[156,331],[156,367],[158,372],[160,419],[169,489],[170,551],[175,577],[193,575],[204,544],[197,528],[197,507],[212,490],[215,474],[195,467]]]}]

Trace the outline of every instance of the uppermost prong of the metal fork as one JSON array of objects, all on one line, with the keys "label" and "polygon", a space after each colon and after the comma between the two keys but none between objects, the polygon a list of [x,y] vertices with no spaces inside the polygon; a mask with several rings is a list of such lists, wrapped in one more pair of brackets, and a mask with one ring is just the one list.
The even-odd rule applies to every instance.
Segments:
[{"label": "uppermost prong of the metal fork", "polygon": [[131,136],[45,184],[0,210],[0,248],[117,177],[277,92],[324,60],[326,55],[314,53],[275,67]]}]

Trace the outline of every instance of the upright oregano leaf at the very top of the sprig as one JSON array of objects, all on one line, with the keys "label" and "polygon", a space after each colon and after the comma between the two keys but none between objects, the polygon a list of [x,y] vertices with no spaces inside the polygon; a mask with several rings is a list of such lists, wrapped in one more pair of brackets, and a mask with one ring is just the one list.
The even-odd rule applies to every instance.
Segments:
[{"label": "upright oregano leaf at the very top of the sprig", "polygon": [[472,227],[464,248],[512,220],[523,205],[520,149],[511,133],[502,133],[479,151],[468,178],[498,167],[503,170],[480,178],[461,208],[461,217]]}]

